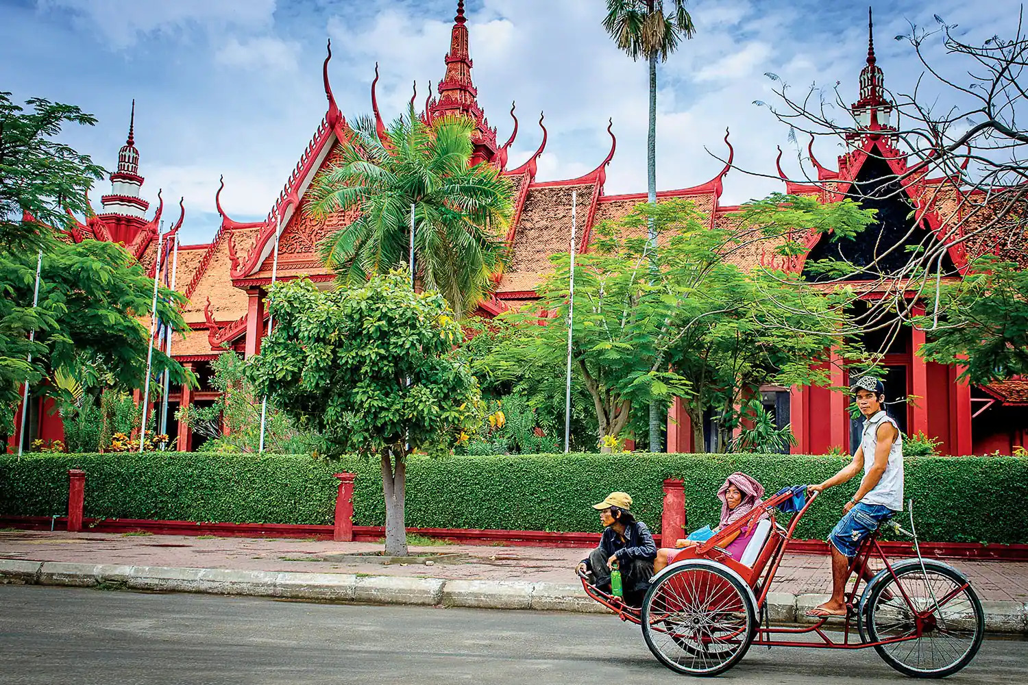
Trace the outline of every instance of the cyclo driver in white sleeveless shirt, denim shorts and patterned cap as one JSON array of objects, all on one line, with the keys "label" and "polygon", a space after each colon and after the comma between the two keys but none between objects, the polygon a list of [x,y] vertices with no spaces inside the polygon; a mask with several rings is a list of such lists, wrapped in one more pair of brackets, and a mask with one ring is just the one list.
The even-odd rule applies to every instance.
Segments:
[{"label": "cyclo driver in white sleeveless shirt, denim shorts and patterned cap", "polygon": [[[903,510],[903,434],[885,413],[885,385],[874,376],[861,376],[850,386],[853,401],[864,414],[864,432],[853,460],[808,493],[846,483],[860,470],[864,479],[856,494],[843,505],[843,518],[829,535],[832,548],[832,599],[807,612],[809,616],[845,616],[849,565],[860,542],[896,511]],[[865,576],[871,569],[865,568]]]}]

